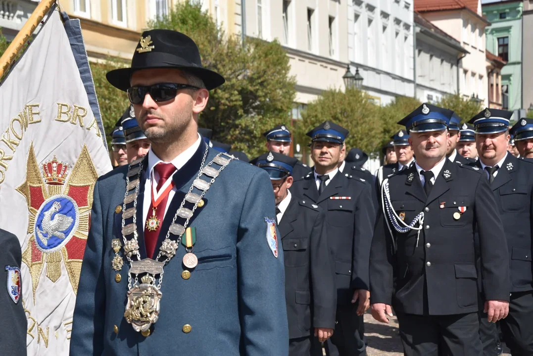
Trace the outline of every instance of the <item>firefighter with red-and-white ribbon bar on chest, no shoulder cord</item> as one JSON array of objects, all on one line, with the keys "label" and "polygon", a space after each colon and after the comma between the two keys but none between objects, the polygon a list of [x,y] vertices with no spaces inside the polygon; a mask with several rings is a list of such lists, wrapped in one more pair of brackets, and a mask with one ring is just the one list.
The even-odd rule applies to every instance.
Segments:
[{"label": "firefighter with red-and-white ribbon bar on chest, no shoulder cord", "polygon": [[[314,171],[293,184],[292,192],[326,212],[329,249],[337,293],[335,333],[325,343],[328,355],[366,355],[359,329],[368,308],[368,257],[375,214],[371,188],[362,178],[338,171],[348,130],[325,121],[307,133],[312,138]],[[313,355],[322,355],[314,338]]]}]

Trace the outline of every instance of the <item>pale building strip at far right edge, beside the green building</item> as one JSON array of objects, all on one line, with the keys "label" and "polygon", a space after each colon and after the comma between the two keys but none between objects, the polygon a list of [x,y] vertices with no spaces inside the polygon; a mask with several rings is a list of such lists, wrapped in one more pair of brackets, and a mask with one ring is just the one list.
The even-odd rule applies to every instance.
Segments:
[{"label": "pale building strip at far right edge, beside the green building", "polygon": [[523,2],[522,24],[522,107],[533,110],[533,0]]}]

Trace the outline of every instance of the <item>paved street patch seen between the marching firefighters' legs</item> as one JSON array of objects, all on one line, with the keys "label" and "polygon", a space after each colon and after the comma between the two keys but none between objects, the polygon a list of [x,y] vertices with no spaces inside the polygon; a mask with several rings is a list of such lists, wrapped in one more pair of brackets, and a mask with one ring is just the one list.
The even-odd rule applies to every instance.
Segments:
[{"label": "paved street patch seen between the marching firefighters' legs", "polygon": [[[390,324],[386,325],[374,320],[369,312],[366,313],[365,334],[368,339],[368,356],[403,355],[396,317],[393,317]],[[503,356],[511,356],[511,354],[503,353]]]}]

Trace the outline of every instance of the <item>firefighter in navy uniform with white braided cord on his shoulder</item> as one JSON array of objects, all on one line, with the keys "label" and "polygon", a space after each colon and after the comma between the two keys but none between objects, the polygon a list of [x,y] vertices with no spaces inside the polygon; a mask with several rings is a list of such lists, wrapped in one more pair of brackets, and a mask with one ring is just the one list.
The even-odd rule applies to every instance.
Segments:
[{"label": "firefighter in navy uniform with white braided cord on his shoulder", "polygon": [[[490,320],[506,316],[504,229],[481,170],[446,159],[452,112],[422,104],[399,123],[415,164],[383,181],[370,251],[372,315],[398,314],[407,356],[482,356],[474,228]],[[381,200],[380,200],[381,201]]]}]

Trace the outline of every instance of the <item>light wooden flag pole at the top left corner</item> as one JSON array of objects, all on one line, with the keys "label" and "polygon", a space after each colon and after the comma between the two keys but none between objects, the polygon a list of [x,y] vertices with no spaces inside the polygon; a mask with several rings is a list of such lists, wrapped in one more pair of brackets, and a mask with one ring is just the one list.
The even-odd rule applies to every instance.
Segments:
[{"label": "light wooden flag pole at the top left corner", "polygon": [[17,36],[15,36],[9,47],[7,47],[6,51],[0,58],[0,78],[2,78],[4,74],[9,70],[15,58],[17,58],[17,54],[20,52],[26,41],[33,34],[35,29],[39,25],[39,22],[43,20],[44,16],[52,8],[54,3],[55,0],[41,0],[41,2],[35,8],[34,12],[31,13],[31,16],[28,21],[26,21],[24,26],[22,26],[22,29],[19,31]]}]

